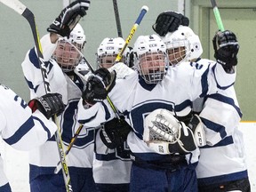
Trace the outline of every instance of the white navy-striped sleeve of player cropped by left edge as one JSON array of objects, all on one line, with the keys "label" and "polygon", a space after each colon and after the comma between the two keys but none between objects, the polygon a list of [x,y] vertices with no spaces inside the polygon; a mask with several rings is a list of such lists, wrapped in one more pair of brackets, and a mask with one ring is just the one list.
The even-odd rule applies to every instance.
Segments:
[{"label": "white navy-striped sleeve of player cropped by left edge", "polygon": [[56,125],[46,119],[38,110],[32,114],[27,103],[9,88],[0,86],[1,135],[13,148],[30,150],[50,138]]}]

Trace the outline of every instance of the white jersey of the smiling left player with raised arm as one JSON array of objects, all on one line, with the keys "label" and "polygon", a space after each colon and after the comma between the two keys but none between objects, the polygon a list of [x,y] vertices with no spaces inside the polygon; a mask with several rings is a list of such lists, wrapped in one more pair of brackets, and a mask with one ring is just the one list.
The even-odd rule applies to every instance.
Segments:
[{"label": "white jersey of the smiling left player with raised arm", "polygon": [[[51,43],[49,34],[43,36],[41,43],[51,92],[59,92],[62,95],[63,102],[66,104],[65,110],[58,120],[60,122],[61,138],[66,150],[80,125],[76,121],[76,111],[77,103],[84,89],[84,80],[76,74],[71,79],[62,72],[55,60],[49,60],[56,48],[56,44]],[[44,83],[35,48],[28,51],[22,63],[22,69],[28,83],[31,98],[44,94]],[[83,172],[83,168],[92,168],[93,140],[94,128],[83,128],[67,156],[68,167],[77,168],[76,172],[79,172],[79,170]],[[43,146],[30,153],[29,164],[34,165],[30,166],[30,168],[33,167],[32,171],[30,169],[30,176],[32,175],[30,180],[38,174],[54,174],[53,171],[59,161],[57,143],[52,137]]]}]

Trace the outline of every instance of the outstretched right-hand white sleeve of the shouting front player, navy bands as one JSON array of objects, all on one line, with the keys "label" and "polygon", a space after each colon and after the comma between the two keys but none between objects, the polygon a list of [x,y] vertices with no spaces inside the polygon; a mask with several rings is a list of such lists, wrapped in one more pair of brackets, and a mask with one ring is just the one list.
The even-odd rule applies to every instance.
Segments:
[{"label": "outstretched right-hand white sleeve of the shouting front player, navy bands", "polygon": [[184,62],[175,68],[171,68],[171,76],[175,76],[183,89],[190,90],[194,100],[228,89],[236,79],[236,73],[226,73],[220,64],[212,60]]}]

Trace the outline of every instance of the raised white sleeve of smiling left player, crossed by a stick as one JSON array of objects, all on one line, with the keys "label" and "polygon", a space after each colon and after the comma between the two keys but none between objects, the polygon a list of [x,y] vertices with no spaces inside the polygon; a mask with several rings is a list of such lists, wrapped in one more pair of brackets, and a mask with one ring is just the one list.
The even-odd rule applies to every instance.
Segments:
[{"label": "raised white sleeve of smiling left player, crossed by a stick", "polygon": [[[67,89],[65,89],[67,87],[66,78],[56,61],[50,59],[56,48],[56,44],[51,43],[49,34],[41,39],[41,43],[45,60],[44,65],[51,85],[51,92],[59,92],[62,95],[63,102],[67,103]],[[35,47],[27,52],[21,67],[28,84],[30,98],[32,99],[36,96],[44,95],[44,79],[37,59]]]}]

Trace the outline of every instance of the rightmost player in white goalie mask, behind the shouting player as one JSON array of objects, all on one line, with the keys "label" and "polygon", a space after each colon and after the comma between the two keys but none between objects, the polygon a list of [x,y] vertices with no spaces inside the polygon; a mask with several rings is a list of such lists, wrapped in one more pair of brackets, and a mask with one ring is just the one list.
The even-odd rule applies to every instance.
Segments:
[{"label": "rightmost player in white goalie mask, behind the shouting player", "polygon": [[[167,13],[165,12],[165,14]],[[173,12],[172,17],[175,17]],[[159,20],[161,20],[161,14],[158,16]],[[165,20],[165,24],[168,23],[166,18],[163,20]],[[163,20],[162,23],[164,23]],[[161,22],[157,24],[159,34],[163,34],[161,25]],[[216,41],[225,40],[224,36],[229,36],[230,40],[236,38],[230,31],[225,31],[223,34],[220,33],[218,38],[217,36],[213,38],[213,44],[217,44]],[[172,65],[182,65],[184,64],[182,61],[188,60],[196,60],[198,67],[204,65],[204,60],[200,59],[203,52],[200,40],[191,28],[180,26],[174,32],[164,36],[164,42],[170,52],[169,61]],[[235,45],[233,49],[237,49],[238,52],[238,46]],[[231,50],[232,47],[229,49]],[[220,62],[226,63],[226,70],[230,70],[230,62],[233,63],[232,66],[236,65],[236,50],[234,50],[236,53],[232,60],[220,57],[221,54],[227,52],[217,50],[217,46],[214,46],[214,51],[214,57],[219,58]],[[204,102],[204,100],[206,101]],[[204,148],[200,148],[201,155],[196,167],[199,191],[249,192],[250,182],[245,164],[243,135],[238,130],[242,112],[236,99],[234,87],[220,90],[204,100],[196,100],[197,102],[193,103],[194,111],[196,110],[197,113],[202,111],[200,118],[204,123],[207,142]]]}]

